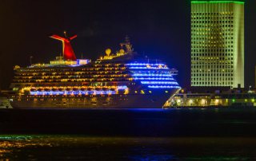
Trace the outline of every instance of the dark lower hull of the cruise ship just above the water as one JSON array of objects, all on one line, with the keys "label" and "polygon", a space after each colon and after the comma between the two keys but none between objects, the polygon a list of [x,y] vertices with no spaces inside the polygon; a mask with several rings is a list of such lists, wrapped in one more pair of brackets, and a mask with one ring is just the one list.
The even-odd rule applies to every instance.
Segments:
[{"label": "dark lower hull of the cruise ship just above the water", "polygon": [[177,92],[155,94],[97,96],[18,96],[11,102],[14,108],[162,108]]}]

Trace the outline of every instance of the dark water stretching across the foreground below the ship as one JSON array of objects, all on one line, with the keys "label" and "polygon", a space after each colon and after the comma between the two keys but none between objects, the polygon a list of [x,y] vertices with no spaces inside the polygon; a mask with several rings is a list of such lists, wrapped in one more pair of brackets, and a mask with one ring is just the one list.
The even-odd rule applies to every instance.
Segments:
[{"label": "dark water stretching across the foreground below the ship", "polygon": [[256,109],[0,110],[2,160],[256,160]]}]

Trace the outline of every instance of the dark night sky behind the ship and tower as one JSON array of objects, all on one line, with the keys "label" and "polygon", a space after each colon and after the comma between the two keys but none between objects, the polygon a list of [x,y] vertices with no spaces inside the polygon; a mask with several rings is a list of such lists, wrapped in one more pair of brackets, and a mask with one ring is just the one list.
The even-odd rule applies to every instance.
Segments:
[{"label": "dark night sky behind the ship and tower", "polygon": [[[158,58],[190,85],[189,0],[1,0],[0,88],[9,88],[14,65],[49,62],[62,52],[53,33],[69,36],[77,57],[95,60],[128,35],[138,53]],[[254,85],[256,1],[246,1],[246,86]]]}]

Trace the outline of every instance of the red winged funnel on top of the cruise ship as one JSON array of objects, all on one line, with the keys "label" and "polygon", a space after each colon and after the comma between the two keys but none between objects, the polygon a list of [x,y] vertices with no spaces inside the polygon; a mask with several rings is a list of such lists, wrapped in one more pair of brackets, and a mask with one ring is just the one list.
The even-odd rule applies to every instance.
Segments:
[{"label": "red winged funnel on top of the cruise ship", "polygon": [[67,37],[66,32],[64,32],[64,35],[65,37],[60,37],[54,34],[50,37],[58,41],[62,41],[62,53],[65,60],[76,61],[77,58],[75,57],[74,50],[70,44],[70,41],[73,40],[75,37],[77,37],[77,35],[74,35],[73,37]]}]

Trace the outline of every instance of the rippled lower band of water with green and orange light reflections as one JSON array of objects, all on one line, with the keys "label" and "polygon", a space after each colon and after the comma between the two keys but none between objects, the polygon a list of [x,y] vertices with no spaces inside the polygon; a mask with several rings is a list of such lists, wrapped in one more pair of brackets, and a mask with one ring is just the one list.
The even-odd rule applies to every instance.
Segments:
[{"label": "rippled lower band of water with green and orange light reflections", "polygon": [[2,135],[0,160],[254,160],[254,138]]}]

